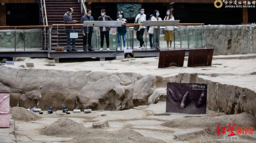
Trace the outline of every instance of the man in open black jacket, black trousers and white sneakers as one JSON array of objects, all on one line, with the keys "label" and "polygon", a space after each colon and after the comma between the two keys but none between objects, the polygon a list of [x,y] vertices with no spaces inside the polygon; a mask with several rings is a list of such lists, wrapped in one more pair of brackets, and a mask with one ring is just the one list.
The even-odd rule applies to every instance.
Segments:
[{"label": "man in open black jacket, black trousers and white sneakers", "polygon": [[[109,16],[106,15],[106,10],[101,9],[101,16],[98,17],[98,21],[113,21]],[[99,51],[103,51],[104,36],[106,37],[107,51],[109,50],[109,30],[110,27],[100,27],[101,31],[101,48]]]}]

